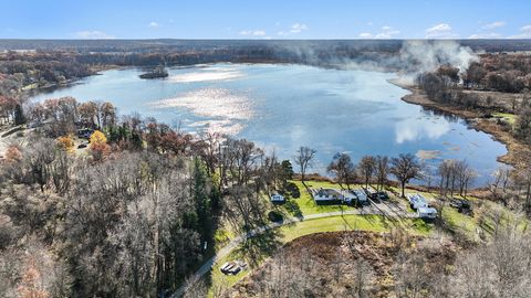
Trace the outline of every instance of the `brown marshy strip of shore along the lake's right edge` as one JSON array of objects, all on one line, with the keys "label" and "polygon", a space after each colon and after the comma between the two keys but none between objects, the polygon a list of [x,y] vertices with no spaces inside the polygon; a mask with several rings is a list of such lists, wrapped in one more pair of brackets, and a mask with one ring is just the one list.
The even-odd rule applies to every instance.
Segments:
[{"label": "brown marshy strip of shore along the lake's right edge", "polygon": [[500,125],[490,120],[491,118],[486,118],[485,113],[479,110],[466,110],[460,107],[439,104],[428,99],[419,88],[410,84],[399,82],[398,79],[388,79],[388,82],[409,92],[409,94],[400,98],[402,100],[464,118],[470,128],[488,134],[496,141],[503,143],[507,153],[497,157],[498,162],[514,167],[516,169],[522,169],[525,167],[521,162],[521,160],[524,159],[520,157],[525,153],[531,153],[531,150],[527,148],[525,145],[514,139],[510,131],[504,130]]}]

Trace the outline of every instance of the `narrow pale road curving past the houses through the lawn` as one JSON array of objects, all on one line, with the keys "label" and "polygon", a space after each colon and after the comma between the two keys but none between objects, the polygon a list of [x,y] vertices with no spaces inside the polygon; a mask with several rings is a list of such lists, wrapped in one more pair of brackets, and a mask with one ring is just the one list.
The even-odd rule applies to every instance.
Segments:
[{"label": "narrow pale road curving past the houses through the lawn", "polygon": [[[305,215],[305,216],[302,216],[302,217],[289,217],[289,219],[285,219],[283,222],[271,223],[271,224],[258,227],[258,228],[256,228],[256,230],[253,230],[253,231],[251,231],[247,234],[240,234],[239,236],[231,240],[229,244],[227,244],[221,249],[219,249],[219,252],[217,252],[214,257],[211,257],[207,262],[205,262],[205,264],[202,264],[202,266],[194,274],[194,276],[189,280],[199,280],[205,274],[210,272],[210,269],[214,267],[214,264],[216,264],[216,262],[218,259],[221,259],[221,258],[226,257],[228,254],[230,254],[230,252],[232,252],[232,249],[238,247],[238,245],[240,245],[246,240],[248,240],[250,237],[254,237],[256,235],[259,235],[259,234],[261,234],[264,231],[268,231],[270,228],[275,228],[275,227],[280,227],[282,225],[292,224],[292,223],[296,223],[296,222],[303,222],[303,221],[308,221],[308,220],[316,220],[316,219],[333,217],[333,216],[341,216],[341,215],[357,215],[357,214],[362,214],[362,215],[378,214],[378,215],[382,215],[384,212],[386,213],[385,215],[387,215],[388,217],[403,217],[403,219],[406,219],[406,217],[407,219],[416,219],[417,217],[417,214],[407,213],[407,212],[404,212],[403,214],[400,214],[398,216],[397,214],[394,214],[394,213],[389,212],[387,205],[378,204],[378,207],[379,209],[375,207],[374,205],[368,205],[368,206],[364,206],[364,207],[358,209],[358,210],[347,210],[347,211],[343,211],[343,212],[342,211],[334,211],[334,212],[326,212],[326,213],[310,214],[310,215]],[[185,294],[185,291],[186,291],[186,285],[180,286],[170,297],[171,298],[181,297]]]}]

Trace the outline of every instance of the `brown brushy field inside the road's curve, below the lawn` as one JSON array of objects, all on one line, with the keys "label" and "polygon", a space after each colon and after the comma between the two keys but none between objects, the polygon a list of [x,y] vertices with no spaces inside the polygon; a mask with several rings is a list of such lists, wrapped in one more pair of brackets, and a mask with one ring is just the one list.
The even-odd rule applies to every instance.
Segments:
[{"label": "brown brushy field inside the road's curve, below the lawn", "polygon": [[[305,297],[351,297],[353,291],[358,292],[356,285],[363,285],[367,297],[394,296],[393,272],[404,254],[423,252],[429,257],[426,270],[434,273],[455,262],[454,244],[433,243],[399,233],[361,231],[303,236],[238,283],[229,296],[269,297],[274,291],[280,296],[304,292]],[[298,288],[290,292],[295,285]],[[288,289],[279,292],[280,288]]]}]

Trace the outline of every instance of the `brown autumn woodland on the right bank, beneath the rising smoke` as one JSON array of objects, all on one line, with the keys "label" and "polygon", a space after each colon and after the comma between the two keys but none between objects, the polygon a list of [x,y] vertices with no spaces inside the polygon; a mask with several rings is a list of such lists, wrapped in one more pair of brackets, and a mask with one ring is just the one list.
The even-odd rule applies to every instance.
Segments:
[{"label": "brown autumn woodland on the right bank, beneath the rising smoke", "polygon": [[[465,73],[449,65],[434,72],[418,74],[415,83],[426,96],[437,103],[456,105],[467,109],[509,111],[517,115],[516,123],[508,127],[513,136],[531,142],[531,56],[523,54],[485,54]],[[472,91],[519,93],[520,98],[502,103],[502,98],[482,98]]]}]

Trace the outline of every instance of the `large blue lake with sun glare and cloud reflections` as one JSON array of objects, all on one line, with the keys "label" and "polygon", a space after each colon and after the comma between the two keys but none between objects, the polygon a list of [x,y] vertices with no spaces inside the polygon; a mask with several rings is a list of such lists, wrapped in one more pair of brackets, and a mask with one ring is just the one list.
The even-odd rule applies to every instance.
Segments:
[{"label": "large blue lake with sun glare and cloud reflections", "polygon": [[335,152],[397,156],[412,152],[431,167],[466,159],[485,183],[506,147],[462,119],[410,105],[387,79],[394,74],[304,65],[212,64],[175,67],[165,79],[140,79],[140,70],[103,72],[81,84],[34,98],[74,96],[110,100],[188,131],[216,130],[256,141],[283,159],[301,145],[317,150],[313,171],[325,172]]}]

